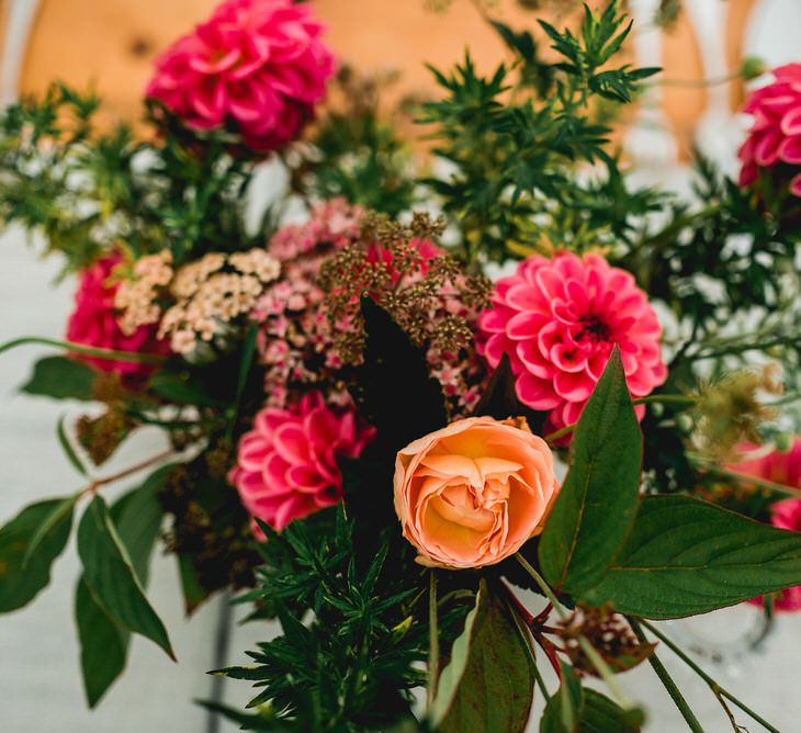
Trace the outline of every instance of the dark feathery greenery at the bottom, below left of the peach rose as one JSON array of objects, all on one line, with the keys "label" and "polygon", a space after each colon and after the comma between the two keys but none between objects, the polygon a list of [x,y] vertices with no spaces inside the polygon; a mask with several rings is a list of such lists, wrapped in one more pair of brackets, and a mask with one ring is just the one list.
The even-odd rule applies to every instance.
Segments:
[{"label": "dark feathery greenery at the bottom, below left of the peach rose", "polygon": [[[354,544],[341,506],[281,534],[260,527],[266,565],[247,599],[274,613],[283,634],[249,653],[255,666],[218,674],[253,681],[261,691],[250,706],[269,703],[281,730],[376,730],[409,719],[410,690],[426,680],[416,664],[426,658],[428,627],[419,613],[424,571],[408,545],[386,530],[375,552]],[[458,616],[443,614],[445,631]]]}]

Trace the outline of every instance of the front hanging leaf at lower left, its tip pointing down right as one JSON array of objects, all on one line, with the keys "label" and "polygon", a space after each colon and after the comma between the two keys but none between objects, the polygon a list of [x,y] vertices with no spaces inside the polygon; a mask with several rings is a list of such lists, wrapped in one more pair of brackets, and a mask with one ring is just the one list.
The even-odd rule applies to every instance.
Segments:
[{"label": "front hanging leaf at lower left, its tip pointing down right", "polygon": [[154,641],[174,659],[167,630],[145,597],[100,496],[94,497],[78,527],[78,554],[83,562],[87,585],[101,608],[124,628]]}]

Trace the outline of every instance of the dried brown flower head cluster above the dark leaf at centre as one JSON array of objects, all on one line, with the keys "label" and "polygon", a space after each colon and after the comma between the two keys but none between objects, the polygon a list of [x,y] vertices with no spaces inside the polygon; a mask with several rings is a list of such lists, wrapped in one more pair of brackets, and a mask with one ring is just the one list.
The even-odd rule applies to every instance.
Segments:
[{"label": "dried brown flower head cluster above the dark leaf at centre", "polygon": [[435,240],[443,222],[415,214],[409,224],[368,215],[358,241],[330,257],[319,284],[335,332],[334,348],[358,364],[365,346],[360,300],[369,294],[409,339],[426,349],[431,375],[442,384],[451,416],[478,399],[485,368],[475,352],[478,312],[488,305],[492,282],[469,274]]}]

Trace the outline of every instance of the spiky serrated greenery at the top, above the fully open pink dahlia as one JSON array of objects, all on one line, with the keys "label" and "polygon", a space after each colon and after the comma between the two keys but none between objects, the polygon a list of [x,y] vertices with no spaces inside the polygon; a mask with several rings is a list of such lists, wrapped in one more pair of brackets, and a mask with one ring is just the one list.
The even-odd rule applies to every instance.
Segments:
[{"label": "spiky serrated greenery at the top, above the fully open pink dahlia", "polygon": [[[450,75],[432,69],[447,95],[425,103],[420,122],[435,125],[435,153],[452,171],[427,182],[458,224],[470,261],[625,241],[634,217],[661,200],[627,191],[607,150],[610,128],[594,110],[598,100],[630,101],[656,71],[607,68],[631,27],[617,2],[600,14],[587,8],[578,36],[540,25],[561,56],[555,64],[540,59],[531,34],[494,23],[517,57],[517,83],[506,65],[481,76],[469,55]],[[579,162],[603,171],[580,182]]]}]

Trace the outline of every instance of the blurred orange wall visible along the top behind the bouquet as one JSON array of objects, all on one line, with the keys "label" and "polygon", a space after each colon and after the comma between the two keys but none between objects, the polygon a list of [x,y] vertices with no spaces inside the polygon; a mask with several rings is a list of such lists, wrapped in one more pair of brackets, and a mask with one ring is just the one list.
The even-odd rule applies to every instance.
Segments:
[{"label": "blurred orange wall visible along the top behind the bouquet", "polygon": [[[0,0],[0,9],[8,2]],[[753,3],[726,3],[732,68],[740,63],[741,38]],[[41,0],[20,89],[40,92],[54,78],[79,88],[92,81],[105,99],[110,117],[136,119],[154,55],[203,20],[214,4],[215,0]],[[424,0],[316,0],[315,5],[329,24],[328,37],[340,58],[360,70],[403,71],[394,94],[432,93],[424,61],[447,69],[470,47],[478,67],[488,69],[504,55],[503,44],[470,0],[454,0],[443,13],[425,10]],[[514,27],[533,25],[534,14],[521,10],[515,0],[498,0],[493,14]],[[702,76],[698,43],[686,18],[665,37],[664,67],[670,79]],[[663,99],[686,154],[706,92],[667,87]],[[741,101],[742,87],[732,84],[733,108]]]}]

